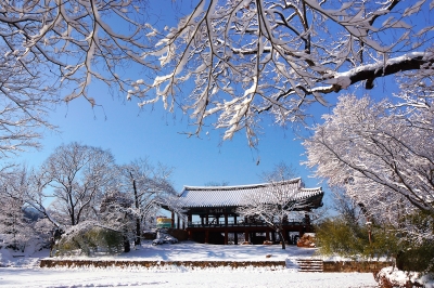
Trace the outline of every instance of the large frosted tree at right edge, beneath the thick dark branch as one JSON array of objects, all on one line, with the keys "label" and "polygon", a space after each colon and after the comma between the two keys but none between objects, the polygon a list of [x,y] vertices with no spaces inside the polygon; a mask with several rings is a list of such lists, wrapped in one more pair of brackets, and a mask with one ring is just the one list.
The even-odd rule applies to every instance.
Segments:
[{"label": "large frosted tree at right edge, beneath the thick dark branch", "polygon": [[374,219],[414,239],[432,238],[433,231],[418,232],[407,221],[419,212],[431,215],[431,224],[434,221],[432,94],[406,95],[405,105],[342,96],[333,114],[324,115],[324,123],[305,141],[307,165],[331,185],[345,186]]}]

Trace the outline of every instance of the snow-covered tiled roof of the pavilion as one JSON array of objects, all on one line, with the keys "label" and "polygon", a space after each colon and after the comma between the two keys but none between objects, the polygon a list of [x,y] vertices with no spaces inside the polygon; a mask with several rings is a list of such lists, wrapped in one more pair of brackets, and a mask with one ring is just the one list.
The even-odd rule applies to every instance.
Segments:
[{"label": "snow-covered tiled roof of the pavilion", "polygon": [[[299,201],[316,198],[312,208],[321,206],[323,191],[321,187],[304,188],[301,178],[278,183],[263,183],[241,186],[184,186],[179,195],[183,208],[201,207],[239,207],[252,197],[260,197],[261,202],[276,201],[276,193],[284,201]],[[278,191],[278,192],[277,192]]]}]

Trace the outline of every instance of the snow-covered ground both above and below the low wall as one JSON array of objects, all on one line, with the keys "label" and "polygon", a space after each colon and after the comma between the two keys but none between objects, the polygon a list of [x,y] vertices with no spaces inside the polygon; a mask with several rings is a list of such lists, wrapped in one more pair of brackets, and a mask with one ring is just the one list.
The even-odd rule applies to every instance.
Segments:
[{"label": "snow-covered ground both above and below the low wall", "polygon": [[[295,259],[309,258],[312,249],[289,246],[215,246],[194,243],[152,246],[105,260],[162,261],[286,261],[286,269],[229,267],[191,270],[165,266],[146,270],[127,269],[40,269],[38,261],[48,256],[41,251],[29,257],[13,258],[0,250],[0,287],[376,287],[371,273],[299,273]],[[271,254],[270,258],[266,258]],[[84,257],[80,257],[81,259]]]}]

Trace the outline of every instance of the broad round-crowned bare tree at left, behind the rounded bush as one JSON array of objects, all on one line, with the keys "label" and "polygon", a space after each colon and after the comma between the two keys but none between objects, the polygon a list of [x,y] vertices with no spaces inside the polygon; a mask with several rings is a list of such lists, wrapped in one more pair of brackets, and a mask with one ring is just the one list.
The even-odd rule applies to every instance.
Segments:
[{"label": "broad round-crowned bare tree at left, behind the rounded bush", "polygon": [[[113,185],[115,168],[108,150],[76,142],[55,148],[40,169],[40,179],[44,182],[41,188],[50,187],[50,196],[54,199],[50,218],[63,225],[95,219],[101,197]],[[36,197],[49,196],[42,192],[39,191]]]}]

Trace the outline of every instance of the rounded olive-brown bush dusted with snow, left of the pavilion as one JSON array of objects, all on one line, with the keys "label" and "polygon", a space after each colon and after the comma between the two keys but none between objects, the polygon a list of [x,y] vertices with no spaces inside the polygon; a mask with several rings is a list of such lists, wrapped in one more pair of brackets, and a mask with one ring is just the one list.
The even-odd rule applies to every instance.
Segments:
[{"label": "rounded olive-brown bush dusted with snow, left of the pavilion", "polygon": [[120,232],[102,227],[74,231],[56,245],[56,254],[94,253],[115,254],[124,251],[124,237]]}]

